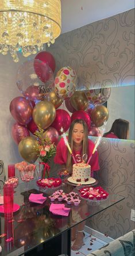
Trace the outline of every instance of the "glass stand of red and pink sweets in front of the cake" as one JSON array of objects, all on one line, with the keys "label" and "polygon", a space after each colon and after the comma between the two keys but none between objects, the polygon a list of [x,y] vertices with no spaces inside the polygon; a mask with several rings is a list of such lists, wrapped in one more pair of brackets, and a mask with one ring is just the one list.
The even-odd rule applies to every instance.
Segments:
[{"label": "glass stand of red and pink sweets in front of the cake", "polygon": [[109,196],[109,193],[106,192],[101,186],[93,187],[83,187],[79,190],[79,196],[88,201],[102,201],[106,200]]}]

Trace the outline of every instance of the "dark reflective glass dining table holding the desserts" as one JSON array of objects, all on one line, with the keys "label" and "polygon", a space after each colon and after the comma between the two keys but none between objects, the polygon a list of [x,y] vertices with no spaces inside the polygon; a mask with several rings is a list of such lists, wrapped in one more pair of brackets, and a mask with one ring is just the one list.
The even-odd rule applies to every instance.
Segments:
[{"label": "dark reflective glass dining table holding the desserts", "polygon": [[[2,247],[0,256],[57,256],[59,254],[70,256],[71,228],[97,213],[110,208],[119,201],[124,200],[122,196],[109,194],[106,200],[97,203],[91,203],[81,199],[78,207],[62,202],[65,204],[65,207],[71,208],[71,211],[67,217],[58,216],[49,212],[49,206],[51,204],[49,198],[43,204],[29,202],[30,193],[44,193],[44,196],[49,196],[53,193],[53,189],[42,192],[36,186],[35,180],[29,183],[28,191],[24,191],[24,186],[24,184],[19,184],[16,193],[14,193],[14,203],[20,205],[20,209],[14,212],[13,220],[8,221],[4,214],[0,213],[0,235],[7,234],[8,232],[11,233],[10,236],[13,238],[8,242],[6,241],[6,236],[0,238]],[[77,191],[78,188],[73,188],[73,186],[65,184],[59,189],[63,189],[64,192],[69,193],[73,189]]]}]

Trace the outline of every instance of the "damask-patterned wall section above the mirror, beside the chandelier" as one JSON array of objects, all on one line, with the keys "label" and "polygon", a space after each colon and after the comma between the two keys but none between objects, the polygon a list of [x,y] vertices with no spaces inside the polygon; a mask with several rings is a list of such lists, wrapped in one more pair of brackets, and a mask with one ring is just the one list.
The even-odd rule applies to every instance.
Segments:
[{"label": "damask-patterned wall section above the mirror, beside the chandelier", "polygon": [[47,48],[87,88],[134,85],[134,9],[64,33]]}]

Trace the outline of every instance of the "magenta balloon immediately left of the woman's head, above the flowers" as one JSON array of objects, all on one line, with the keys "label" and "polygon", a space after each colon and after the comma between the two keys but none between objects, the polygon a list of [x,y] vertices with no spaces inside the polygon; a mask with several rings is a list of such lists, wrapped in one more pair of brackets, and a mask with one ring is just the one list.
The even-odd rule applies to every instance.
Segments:
[{"label": "magenta balloon immediately left of the woman's head, above the flowers", "polygon": [[63,127],[64,132],[66,132],[70,127],[70,124],[71,124],[70,114],[68,114],[68,112],[63,109],[57,109],[55,121],[53,121],[51,126],[54,127],[59,132],[59,135],[61,135],[63,133],[60,131],[61,127]]}]

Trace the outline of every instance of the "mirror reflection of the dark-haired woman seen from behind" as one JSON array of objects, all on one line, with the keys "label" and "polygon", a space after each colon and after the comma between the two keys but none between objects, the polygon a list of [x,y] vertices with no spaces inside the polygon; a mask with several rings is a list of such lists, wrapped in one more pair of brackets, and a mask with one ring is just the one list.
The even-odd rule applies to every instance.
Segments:
[{"label": "mirror reflection of the dark-haired woman seen from behind", "polygon": [[103,137],[110,137],[115,139],[129,138],[129,122],[124,119],[116,119],[109,132],[106,132]]}]

